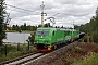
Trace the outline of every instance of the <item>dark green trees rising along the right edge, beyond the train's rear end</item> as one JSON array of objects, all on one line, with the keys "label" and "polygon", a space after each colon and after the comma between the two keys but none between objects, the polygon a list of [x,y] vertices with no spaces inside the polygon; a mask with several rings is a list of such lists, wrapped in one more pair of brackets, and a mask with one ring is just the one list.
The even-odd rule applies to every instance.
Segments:
[{"label": "dark green trees rising along the right edge, beyond the train's rear end", "polygon": [[96,10],[96,15],[90,18],[89,23],[75,26],[75,28],[86,32],[86,40],[90,42],[98,42],[98,8]]}]

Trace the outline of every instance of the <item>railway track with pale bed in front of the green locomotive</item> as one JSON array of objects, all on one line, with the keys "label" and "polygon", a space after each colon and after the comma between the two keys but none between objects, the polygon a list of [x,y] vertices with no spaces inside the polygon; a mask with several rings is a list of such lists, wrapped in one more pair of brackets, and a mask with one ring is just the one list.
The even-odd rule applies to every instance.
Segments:
[{"label": "railway track with pale bed in front of the green locomotive", "polygon": [[[58,51],[59,49],[62,49],[63,47],[58,48],[54,51]],[[34,52],[34,53],[29,53],[29,54],[26,54],[26,55],[23,55],[23,56],[20,56],[20,57],[10,60],[10,61],[2,62],[2,63],[0,63],[0,65],[27,65],[28,62],[30,62],[30,61],[33,62],[37,58],[40,58],[42,55],[45,56],[48,53]]]}]

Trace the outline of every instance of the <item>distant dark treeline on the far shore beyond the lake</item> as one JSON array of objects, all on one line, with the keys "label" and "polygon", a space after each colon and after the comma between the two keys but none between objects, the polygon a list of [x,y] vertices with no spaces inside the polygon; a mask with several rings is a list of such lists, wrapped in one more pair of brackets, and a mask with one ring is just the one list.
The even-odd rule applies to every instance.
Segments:
[{"label": "distant dark treeline on the far shore beyond the lake", "polygon": [[[12,26],[4,26],[3,29],[4,30],[16,30],[16,31],[21,31],[21,30],[28,30],[28,31],[34,31],[37,29],[37,27],[41,27],[41,25],[38,26],[32,26],[32,25],[26,25],[26,23],[24,23],[24,25],[12,25]],[[47,23],[44,25],[44,27],[52,27],[50,26],[50,23]]]}]

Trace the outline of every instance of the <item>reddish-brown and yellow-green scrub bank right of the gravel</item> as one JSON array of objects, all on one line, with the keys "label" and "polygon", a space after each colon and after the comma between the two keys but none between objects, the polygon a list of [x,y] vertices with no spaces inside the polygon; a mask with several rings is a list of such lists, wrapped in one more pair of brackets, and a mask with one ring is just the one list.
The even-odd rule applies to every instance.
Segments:
[{"label": "reddish-brown and yellow-green scrub bank right of the gravel", "polygon": [[98,65],[98,46],[85,43],[74,47],[72,51],[71,56],[61,61],[59,65]]}]

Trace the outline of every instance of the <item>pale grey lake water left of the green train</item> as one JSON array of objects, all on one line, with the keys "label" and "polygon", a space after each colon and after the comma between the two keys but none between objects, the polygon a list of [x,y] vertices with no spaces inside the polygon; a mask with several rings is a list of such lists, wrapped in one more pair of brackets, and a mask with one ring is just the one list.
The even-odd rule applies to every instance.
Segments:
[{"label": "pale grey lake water left of the green train", "polygon": [[24,32],[7,32],[7,39],[3,39],[4,42],[14,42],[14,43],[27,43],[27,39],[30,34]]}]

